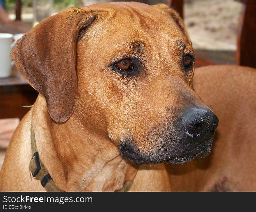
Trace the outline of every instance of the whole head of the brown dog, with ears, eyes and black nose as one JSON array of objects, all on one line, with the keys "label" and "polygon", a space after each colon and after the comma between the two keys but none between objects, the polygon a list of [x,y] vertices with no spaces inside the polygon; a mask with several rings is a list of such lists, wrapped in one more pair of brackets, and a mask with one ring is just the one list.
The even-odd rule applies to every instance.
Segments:
[{"label": "whole head of the brown dog, with ears, eyes and black nose", "polygon": [[166,5],[70,8],[27,32],[11,56],[55,122],[78,117],[134,163],[211,150],[218,118],[191,86],[192,44]]}]

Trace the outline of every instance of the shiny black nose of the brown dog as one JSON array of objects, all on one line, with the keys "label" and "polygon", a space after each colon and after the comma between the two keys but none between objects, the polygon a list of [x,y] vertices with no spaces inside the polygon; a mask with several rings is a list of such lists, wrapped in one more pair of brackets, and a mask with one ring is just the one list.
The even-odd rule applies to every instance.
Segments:
[{"label": "shiny black nose of the brown dog", "polygon": [[207,108],[190,107],[182,115],[182,124],[187,135],[201,142],[213,137],[218,117]]}]

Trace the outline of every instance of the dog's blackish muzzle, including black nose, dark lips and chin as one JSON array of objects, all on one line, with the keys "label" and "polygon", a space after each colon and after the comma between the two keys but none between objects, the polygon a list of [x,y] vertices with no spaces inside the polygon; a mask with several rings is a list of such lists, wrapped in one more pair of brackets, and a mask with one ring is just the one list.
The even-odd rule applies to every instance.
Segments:
[{"label": "dog's blackish muzzle, including black nose, dark lips and chin", "polygon": [[[123,157],[135,164],[186,163],[197,156],[209,155],[217,126],[218,118],[211,110],[193,106],[184,110],[166,134],[153,138],[150,137],[152,134],[159,133],[148,135],[152,150],[149,150],[149,145],[143,145],[147,149],[136,146],[134,139],[123,140],[118,148]],[[156,141],[152,142],[153,139]]]}]

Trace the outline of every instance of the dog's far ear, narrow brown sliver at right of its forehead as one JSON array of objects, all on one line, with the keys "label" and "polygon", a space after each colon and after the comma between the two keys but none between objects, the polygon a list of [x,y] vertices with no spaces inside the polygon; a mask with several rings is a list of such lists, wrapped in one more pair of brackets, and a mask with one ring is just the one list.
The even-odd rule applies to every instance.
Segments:
[{"label": "dog's far ear, narrow brown sliver at right of its forehead", "polygon": [[169,8],[166,4],[156,4],[154,5],[154,7],[163,10],[165,13],[169,14],[170,17],[175,21],[175,23],[177,24],[177,26],[180,28],[180,30],[182,31],[182,33],[185,35],[185,37],[188,39],[188,41],[190,42],[191,46],[191,40],[189,38],[189,34],[186,30],[186,27],[184,25],[184,22],[182,21],[181,17],[179,16],[179,14],[173,10],[172,8]]}]

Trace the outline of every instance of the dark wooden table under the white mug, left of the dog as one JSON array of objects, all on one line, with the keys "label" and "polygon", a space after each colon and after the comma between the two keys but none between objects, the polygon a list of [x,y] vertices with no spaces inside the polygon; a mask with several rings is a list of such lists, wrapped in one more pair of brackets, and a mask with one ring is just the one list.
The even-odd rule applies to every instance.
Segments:
[{"label": "dark wooden table under the white mug, left of the dog", "polygon": [[12,67],[12,76],[0,78],[0,119],[22,118],[33,105],[37,91],[32,88],[17,70]]}]

